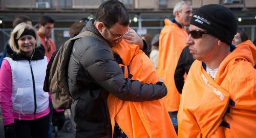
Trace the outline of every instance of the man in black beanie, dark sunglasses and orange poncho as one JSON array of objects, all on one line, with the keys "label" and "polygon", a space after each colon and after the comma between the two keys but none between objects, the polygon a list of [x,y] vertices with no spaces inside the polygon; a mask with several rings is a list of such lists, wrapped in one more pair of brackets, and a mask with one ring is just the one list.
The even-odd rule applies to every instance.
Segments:
[{"label": "man in black beanie, dark sunglasses and orange poncho", "polygon": [[191,65],[178,112],[178,137],[256,135],[256,48],[231,44],[237,18],[226,7],[205,5],[191,17]]}]

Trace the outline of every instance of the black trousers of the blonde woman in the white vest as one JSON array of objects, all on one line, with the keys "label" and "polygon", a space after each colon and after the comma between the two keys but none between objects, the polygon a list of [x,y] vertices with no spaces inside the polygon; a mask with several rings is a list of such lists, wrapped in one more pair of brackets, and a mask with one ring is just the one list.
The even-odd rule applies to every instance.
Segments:
[{"label": "black trousers of the blonde woman in the white vest", "polygon": [[47,138],[49,130],[49,114],[36,120],[14,120],[16,137]]}]

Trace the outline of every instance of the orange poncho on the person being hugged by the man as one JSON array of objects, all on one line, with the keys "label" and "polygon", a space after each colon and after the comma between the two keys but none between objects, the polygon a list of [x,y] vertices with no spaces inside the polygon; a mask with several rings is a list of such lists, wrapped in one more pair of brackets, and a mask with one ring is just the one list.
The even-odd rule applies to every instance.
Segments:
[{"label": "orange poncho on the person being hugged by the man", "polygon": [[[123,64],[124,76],[144,83],[157,83],[158,76],[151,60],[139,50],[138,45],[124,40],[113,51]],[[168,112],[161,99],[145,102],[122,101],[112,94],[108,97],[112,130],[115,121],[122,131],[132,137],[177,137]]]}]

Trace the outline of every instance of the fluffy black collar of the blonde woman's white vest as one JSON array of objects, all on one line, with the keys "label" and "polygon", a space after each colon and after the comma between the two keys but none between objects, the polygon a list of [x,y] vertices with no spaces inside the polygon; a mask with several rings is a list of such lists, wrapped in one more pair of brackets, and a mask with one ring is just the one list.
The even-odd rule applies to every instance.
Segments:
[{"label": "fluffy black collar of the blonde woman's white vest", "polygon": [[[44,59],[44,56],[45,56],[45,48],[44,48],[44,46],[40,45],[40,47],[35,49],[35,53],[31,60]],[[10,57],[13,60],[30,60],[30,57],[26,57],[23,53],[14,52],[10,48],[9,44],[6,47],[6,57]]]}]

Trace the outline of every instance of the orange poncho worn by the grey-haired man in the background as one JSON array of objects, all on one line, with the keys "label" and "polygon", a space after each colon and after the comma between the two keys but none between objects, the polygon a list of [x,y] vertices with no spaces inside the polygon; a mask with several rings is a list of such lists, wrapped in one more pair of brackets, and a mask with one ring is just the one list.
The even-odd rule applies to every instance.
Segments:
[{"label": "orange poncho worn by the grey-haired man in the background", "polygon": [[158,76],[163,78],[168,93],[164,97],[164,105],[168,111],[178,111],[180,93],[178,92],[174,73],[183,48],[186,46],[188,34],[169,19],[164,20],[165,26],[159,36]]}]

